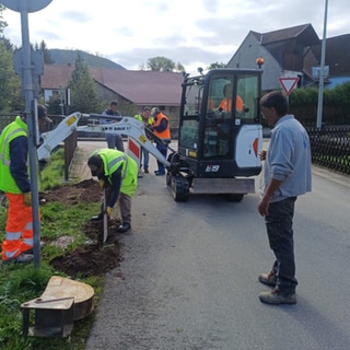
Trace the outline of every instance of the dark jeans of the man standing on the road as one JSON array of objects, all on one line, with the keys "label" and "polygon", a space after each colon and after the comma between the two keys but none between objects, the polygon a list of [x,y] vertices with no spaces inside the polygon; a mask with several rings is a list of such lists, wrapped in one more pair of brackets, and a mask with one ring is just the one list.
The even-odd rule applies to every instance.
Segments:
[{"label": "dark jeans of the man standing on the road", "polygon": [[295,293],[293,215],[296,197],[269,205],[269,214],[265,218],[270,248],[276,261],[272,269],[277,272],[277,288],[285,294]]}]

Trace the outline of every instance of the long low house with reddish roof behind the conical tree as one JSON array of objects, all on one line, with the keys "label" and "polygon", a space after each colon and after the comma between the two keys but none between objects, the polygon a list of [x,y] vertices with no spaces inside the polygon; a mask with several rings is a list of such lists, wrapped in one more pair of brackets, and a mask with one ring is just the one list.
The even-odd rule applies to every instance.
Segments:
[{"label": "long low house with reddish roof behind the conical tree", "polygon": [[[74,67],[71,65],[45,65],[40,79],[45,102],[48,102],[50,96],[60,95],[66,91]],[[89,70],[96,83],[101,100],[107,104],[112,100],[117,100],[122,115],[133,115],[144,106],[158,106],[172,122],[178,120],[184,81],[182,73],[101,67],[89,67]]]}]

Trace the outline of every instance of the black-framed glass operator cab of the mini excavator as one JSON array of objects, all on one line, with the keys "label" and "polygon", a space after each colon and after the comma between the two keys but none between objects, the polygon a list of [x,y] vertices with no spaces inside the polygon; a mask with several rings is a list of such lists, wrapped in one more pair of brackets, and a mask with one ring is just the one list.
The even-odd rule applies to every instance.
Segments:
[{"label": "black-framed glass operator cab of the mini excavator", "polygon": [[203,160],[233,159],[244,125],[259,124],[259,81],[254,71],[217,70],[183,84],[179,152]]}]

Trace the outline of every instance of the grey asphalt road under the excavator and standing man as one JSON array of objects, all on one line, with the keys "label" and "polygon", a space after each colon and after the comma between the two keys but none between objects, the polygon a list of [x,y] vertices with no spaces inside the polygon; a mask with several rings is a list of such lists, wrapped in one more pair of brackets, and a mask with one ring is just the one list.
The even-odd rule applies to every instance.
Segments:
[{"label": "grey asphalt road under the excavator and standing man", "polygon": [[177,203],[144,175],[86,349],[350,349],[349,178],[315,170],[313,188],[296,201],[298,304],[271,306],[258,300],[273,261],[258,195]]}]

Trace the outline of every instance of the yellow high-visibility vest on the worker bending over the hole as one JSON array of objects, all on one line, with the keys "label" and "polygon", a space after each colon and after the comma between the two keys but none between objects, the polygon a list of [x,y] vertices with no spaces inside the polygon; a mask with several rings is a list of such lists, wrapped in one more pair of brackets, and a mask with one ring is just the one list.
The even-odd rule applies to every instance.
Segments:
[{"label": "yellow high-visibility vest on the worker bending over the hole", "polygon": [[138,186],[139,166],[137,162],[128,154],[113,149],[98,150],[93,154],[102,158],[104,173],[109,184],[112,184],[112,174],[121,166],[120,192],[132,197]]}]

